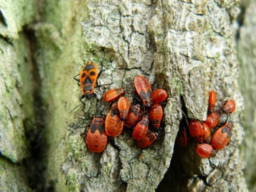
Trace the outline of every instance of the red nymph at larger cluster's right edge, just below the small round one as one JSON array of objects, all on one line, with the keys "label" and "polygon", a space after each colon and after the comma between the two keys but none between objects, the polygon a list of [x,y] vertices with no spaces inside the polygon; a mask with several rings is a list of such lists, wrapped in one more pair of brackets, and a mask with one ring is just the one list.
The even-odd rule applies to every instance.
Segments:
[{"label": "red nymph at larger cluster's right edge, just below the small round one", "polygon": [[151,127],[158,129],[163,117],[163,108],[161,105],[152,105],[149,110],[149,122]]}]

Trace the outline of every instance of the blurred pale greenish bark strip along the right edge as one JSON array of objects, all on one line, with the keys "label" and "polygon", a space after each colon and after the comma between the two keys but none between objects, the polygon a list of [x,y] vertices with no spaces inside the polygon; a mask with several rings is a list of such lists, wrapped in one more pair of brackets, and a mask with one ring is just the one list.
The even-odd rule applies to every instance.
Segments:
[{"label": "blurred pale greenish bark strip along the right edge", "polygon": [[240,63],[239,82],[242,96],[245,100],[245,110],[242,124],[245,127],[245,139],[242,144],[242,155],[245,159],[245,178],[248,188],[256,191],[256,132],[255,132],[255,102],[256,102],[256,2],[242,1],[242,14],[238,38],[238,59]]}]

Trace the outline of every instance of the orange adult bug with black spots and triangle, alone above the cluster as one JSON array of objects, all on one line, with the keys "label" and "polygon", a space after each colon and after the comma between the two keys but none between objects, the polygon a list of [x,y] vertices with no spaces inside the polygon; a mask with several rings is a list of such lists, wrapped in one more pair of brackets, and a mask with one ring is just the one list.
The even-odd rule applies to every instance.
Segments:
[{"label": "orange adult bug with black spots and triangle, alone above the cluster", "polygon": [[[96,63],[92,63],[89,61],[85,66],[80,70],[80,79],[74,77],[80,84],[83,95],[80,97],[80,101],[82,102],[82,98],[86,97],[88,100],[95,95],[95,85],[98,78],[97,65]],[[96,96],[96,95],[95,95]]]}]

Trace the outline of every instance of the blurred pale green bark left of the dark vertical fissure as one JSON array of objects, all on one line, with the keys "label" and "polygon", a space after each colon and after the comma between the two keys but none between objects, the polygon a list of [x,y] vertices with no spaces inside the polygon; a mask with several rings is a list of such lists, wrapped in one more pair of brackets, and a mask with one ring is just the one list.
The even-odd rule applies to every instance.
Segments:
[{"label": "blurred pale green bark left of the dark vertical fissure", "polygon": [[0,1],[0,191],[31,191],[24,159],[33,129],[27,120],[34,120],[32,65],[23,26],[33,14],[31,1]]}]

